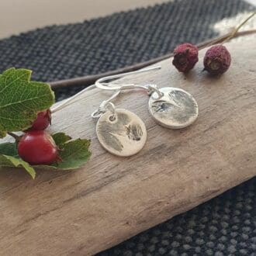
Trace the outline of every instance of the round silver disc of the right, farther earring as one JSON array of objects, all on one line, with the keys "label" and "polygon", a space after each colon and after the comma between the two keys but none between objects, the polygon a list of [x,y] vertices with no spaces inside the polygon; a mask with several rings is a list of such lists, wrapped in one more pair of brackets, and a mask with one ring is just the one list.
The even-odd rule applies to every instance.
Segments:
[{"label": "round silver disc of the right, farther earring", "polygon": [[157,99],[157,93],[150,95],[149,111],[161,126],[171,129],[185,128],[195,122],[199,114],[197,102],[180,88],[159,89],[164,95]]}]

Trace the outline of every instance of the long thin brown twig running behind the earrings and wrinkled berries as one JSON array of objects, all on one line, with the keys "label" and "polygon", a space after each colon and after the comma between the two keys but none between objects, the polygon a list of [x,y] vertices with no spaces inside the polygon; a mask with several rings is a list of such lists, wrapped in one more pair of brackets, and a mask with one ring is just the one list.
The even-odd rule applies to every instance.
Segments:
[{"label": "long thin brown twig running behind the earrings and wrinkled berries", "polygon": [[[245,31],[241,31],[241,32],[237,32],[234,34],[234,31],[231,31],[230,33],[224,34],[223,36],[217,36],[213,39],[210,40],[206,40],[202,43],[199,43],[197,45],[197,47],[199,48],[199,50],[209,47],[213,44],[216,43],[222,43],[224,40],[230,40],[233,39],[234,37],[238,37],[238,36],[246,36],[246,35],[251,35],[253,33],[256,33],[256,29],[250,29],[250,30],[245,30]],[[231,35],[233,35],[232,37],[230,37]],[[87,75],[85,77],[81,77],[81,78],[71,78],[71,79],[66,79],[66,80],[60,80],[60,81],[51,81],[48,82],[51,86],[51,88],[64,88],[64,87],[69,87],[69,86],[78,86],[78,85],[93,85],[95,83],[96,80],[98,80],[99,78],[103,78],[112,74],[120,74],[120,73],[126,73],[126,72],[130,72],[130,71],[137,71],[140,68],[143,67],[147,67],[151,64],[155,64],[159,61],[164,61],[166,59],[168,59],[169,57],[173,57],[173,54],[165,54],[161,57],[156,57],[154,59],[151,59],[150,61],[145,61],[139,64],[134,64],[132,66],[129,67],[123,67],[123,68],[119,68],[116,71],[108,71],[106,73],[102,73],[102,74],[92,74],[92,75]]]}]

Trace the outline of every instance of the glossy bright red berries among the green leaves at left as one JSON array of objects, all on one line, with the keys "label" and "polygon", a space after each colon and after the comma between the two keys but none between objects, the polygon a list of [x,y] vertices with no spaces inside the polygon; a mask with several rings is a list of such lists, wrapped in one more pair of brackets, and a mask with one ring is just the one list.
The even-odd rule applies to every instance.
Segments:
[{"label": "glossy bright red berries among the green leaves at left", "polygon": [[52,164],[61,161],[54,139],[45,129],[51,121],[50,109],[39,112],[32,126],[18,138],[18,153],[29,164]]}]

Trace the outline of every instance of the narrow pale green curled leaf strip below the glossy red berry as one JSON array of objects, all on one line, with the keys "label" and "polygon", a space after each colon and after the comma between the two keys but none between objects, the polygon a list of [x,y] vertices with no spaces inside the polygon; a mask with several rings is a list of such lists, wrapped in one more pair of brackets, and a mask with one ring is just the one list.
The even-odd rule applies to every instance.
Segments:
[{"label": "narrow pale green curled leaf strip below the glossy red berry", "polygon": [[24,168],[32,178],[36,177],[36,171],[26,161],[19,158],[8,156],[5,154],[0,155],[0,166],[2,167],[19,167]]}]

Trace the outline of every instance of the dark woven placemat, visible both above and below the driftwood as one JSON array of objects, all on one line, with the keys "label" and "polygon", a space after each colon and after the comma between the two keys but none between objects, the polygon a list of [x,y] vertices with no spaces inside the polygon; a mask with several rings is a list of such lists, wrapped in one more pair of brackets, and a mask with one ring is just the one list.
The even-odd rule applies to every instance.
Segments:
[{"label": "dark woven placemat, visible both above and below the driftwood", "polygon": [[[54,81],[97,74],[216,36],[221,19],[248,12],[240,0],[181,0],[0,40],[0,71],[27,67]],[[82,87],[57,90],[64,99]],[[102,255],[256,255],[256,178]]]}]

